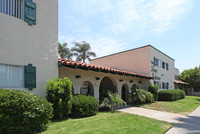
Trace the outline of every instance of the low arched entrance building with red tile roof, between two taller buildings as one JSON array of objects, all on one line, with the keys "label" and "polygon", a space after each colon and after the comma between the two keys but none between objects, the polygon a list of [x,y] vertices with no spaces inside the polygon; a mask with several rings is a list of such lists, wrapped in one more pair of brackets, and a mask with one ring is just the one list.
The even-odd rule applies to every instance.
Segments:
[{"label": "low arched entrance building with red tile roof, between two taller buildings", "polygon": [[74,93],[91,95],[96,99],[106,96],[107,90],[118,93],[126,100],[133,84],[148,89],[153,77],[104,66],[59,59],[59,77],[69,77]]}]

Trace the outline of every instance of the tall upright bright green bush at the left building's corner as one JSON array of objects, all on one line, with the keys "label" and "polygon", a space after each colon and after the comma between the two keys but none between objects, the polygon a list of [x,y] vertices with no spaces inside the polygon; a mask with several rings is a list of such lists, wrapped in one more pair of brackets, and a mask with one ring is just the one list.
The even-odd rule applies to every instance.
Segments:
[{"label": "tall upright bright green bush at the left building's corner", "polygon": [[54,118],[67,118],[72,107],[72,82],[67,77],[49,79],[47,82],[47,100],[53,103]]}]

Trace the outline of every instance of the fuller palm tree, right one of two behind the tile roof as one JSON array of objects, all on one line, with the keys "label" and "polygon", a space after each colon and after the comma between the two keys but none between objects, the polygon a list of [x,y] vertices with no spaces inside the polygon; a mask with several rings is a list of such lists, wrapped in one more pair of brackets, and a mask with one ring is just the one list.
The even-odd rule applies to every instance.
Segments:
[{"label": "fuller palm tree, right one of two behind the tile roof", "polygon": [[82,43],[79,42],[73,42],[75,47],[71,49],[73,55],[77,56],[76,61],[82,61],[85,63],[85,60],[91,60],[90,57],[96,57],[96,54],[92,51],[90,51],[90,44],[82,41]]}]

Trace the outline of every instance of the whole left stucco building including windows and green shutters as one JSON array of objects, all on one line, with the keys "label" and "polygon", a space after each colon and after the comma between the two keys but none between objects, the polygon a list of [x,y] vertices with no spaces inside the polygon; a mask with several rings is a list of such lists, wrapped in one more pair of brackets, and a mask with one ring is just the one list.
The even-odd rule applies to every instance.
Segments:
[{"label": "whole left stucco building including windows and green shutters", "polygon": [[45,96],[47,80],[58,76],[58,1],[0,2],[9,5],[0,7],[0,88]]}]

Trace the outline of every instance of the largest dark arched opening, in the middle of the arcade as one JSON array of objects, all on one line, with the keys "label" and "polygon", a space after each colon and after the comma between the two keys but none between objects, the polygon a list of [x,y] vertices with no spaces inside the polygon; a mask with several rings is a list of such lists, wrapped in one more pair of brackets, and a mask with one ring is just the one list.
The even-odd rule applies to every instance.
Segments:
[{"label": "largest dark arched opening, in the middle of the arcade", "polygon": [[111,77],[104,77],[101,80],[99,87],[99,102],[102,102],[105,97],[107,97],[108,90],[112,93],[117,92],[117,84]]}]

